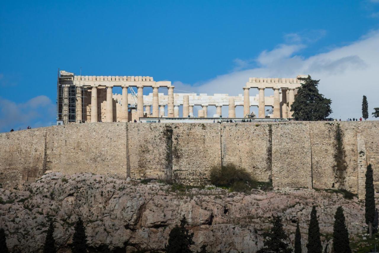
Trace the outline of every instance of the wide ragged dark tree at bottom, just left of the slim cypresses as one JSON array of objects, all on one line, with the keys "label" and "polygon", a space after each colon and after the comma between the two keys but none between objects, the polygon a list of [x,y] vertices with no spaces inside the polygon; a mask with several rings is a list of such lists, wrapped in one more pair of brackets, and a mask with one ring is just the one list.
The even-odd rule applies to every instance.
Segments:
[{"label": "wide ragged dark tree at bottom, just left of the slim cypresses", "polygon": [[292,253],[292,249],[288,244],[288,236],[283,230],[282,219],[279,215],[273,216],[272,224],[271,231],[263,234],[265,247],[258,250],[257,253]]}]

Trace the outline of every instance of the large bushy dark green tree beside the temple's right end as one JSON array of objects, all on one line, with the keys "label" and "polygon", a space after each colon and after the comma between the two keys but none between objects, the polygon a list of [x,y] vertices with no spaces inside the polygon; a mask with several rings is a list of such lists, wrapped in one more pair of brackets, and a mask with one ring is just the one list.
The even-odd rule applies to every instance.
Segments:
[{"label": "large bushy dark green tree beside the temple's right end", "polygon": [[312,80],[310,76],[305,79],[304,84],[298,90],[295,100],[291,105],[291,112],[296,120],[323,120],[330,113],[330,99],[324,98],[318,92],[318,82],[320,80]]}]

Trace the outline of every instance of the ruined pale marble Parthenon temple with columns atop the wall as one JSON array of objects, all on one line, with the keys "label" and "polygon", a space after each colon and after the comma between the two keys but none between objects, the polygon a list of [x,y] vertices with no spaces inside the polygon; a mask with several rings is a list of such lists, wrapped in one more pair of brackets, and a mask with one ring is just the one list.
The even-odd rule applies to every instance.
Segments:
[{"label": "ruined pale marble Parthenon temple with columns atop the wall", "polygon": [[[194,106],[201,106],[197,118],[222,117],[222,106],[228,106],[228,118],[236,118],[236,106],[243,106],[243,117],[255,117],[251,106],[257,106],[258,119],[288,119],[292,117],[290,109],[294,96],[306,77],[251,77],[242,87],[243,94],[230,96],[221,93],[174,93],[170,81],[154,81],[150,76],[75,76],[62,70],[58,74],[57,120],[67,124],[131,122],[146,117],[191,118],[196,117]],[[121,87],[122,94],[113,94],[113,87]],[[137,93],[132,87],[137,87]],[[153,93],[143,95],[144,87],[152,87]],[[168,89],[168,95],[159,93],[160,88]],[[257,88],[258,94],[250,96],[251,88]],[[273,89],[274,95],[265,96],[265,89]],[[180,106],[182,115],[179,115]],[[208,115],[209,106],[216,107],[216,114]],[[266,115],[265,106],[273,108],[271,115]]]}]

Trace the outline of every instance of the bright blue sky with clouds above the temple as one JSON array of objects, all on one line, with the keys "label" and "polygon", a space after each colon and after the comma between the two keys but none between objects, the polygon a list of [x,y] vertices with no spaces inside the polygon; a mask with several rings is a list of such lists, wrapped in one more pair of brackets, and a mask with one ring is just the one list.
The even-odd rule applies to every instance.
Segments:
[{"label": "bright blue sky with clouds above the temple", "polygon": [[[337,96],[329,86],[340,89],[346,73],[359,79],[379,68],[371,59],[378,55],[378,24],[379,0],[4,2],[0,131],[54,122],[58,68],[153,76],[230,95],[242,93],[249,74],[312,74],[332,98],[334,117],[360,117],[363,94]],[[366,94],[369,108],[379,107],[377,94]]]}]

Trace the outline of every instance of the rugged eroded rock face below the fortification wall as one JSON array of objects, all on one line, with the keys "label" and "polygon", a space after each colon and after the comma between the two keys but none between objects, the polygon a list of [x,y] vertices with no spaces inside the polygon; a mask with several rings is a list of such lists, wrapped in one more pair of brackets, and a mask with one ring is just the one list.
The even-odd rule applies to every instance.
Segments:
[{"label": "rugged eroded rock face below the fortification wall", "polygon": [[170,189],[157,182],[142,184],[105,175],[49,173],[22,190],[0,189],[0,225],[11,251],[38,252],[52,219],[57,246],[70,252],[74,223],[80,216],[90,246],[109,245],[130,252],[163,250],[170,230],[185,215],[188,229],[194,232],[193,251],[207,244],[210,252],[254,253],[263,246],[262,232],[270,228],[270,217],[276,214],[282,216],[292,245],[299,221],[305,245],[315,204],[324,246],[331,238],[338,206],[344,209],[351,237],[365,232],[363,203],[340,194],[308,189],[255,194]]}]

